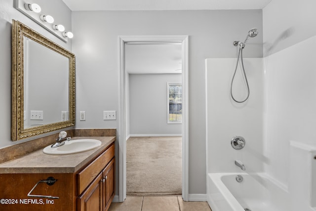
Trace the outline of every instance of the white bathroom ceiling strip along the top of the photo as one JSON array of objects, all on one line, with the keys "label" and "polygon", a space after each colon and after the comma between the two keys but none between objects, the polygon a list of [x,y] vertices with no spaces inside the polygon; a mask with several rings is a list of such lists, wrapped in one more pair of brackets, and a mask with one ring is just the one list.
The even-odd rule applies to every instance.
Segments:
[{"label": "white bathroom ceiling strip along the top of the photo", "polygon": [[72,11],[262,9],[271,0],[63,0]]}]

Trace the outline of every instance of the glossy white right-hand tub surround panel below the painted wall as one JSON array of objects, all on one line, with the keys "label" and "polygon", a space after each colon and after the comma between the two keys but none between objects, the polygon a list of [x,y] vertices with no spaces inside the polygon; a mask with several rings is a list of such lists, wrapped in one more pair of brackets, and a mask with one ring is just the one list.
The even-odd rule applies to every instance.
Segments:
[{"label": "glossy white right-hand tub surround panel below the painted wall", "polygon": [[316,143],[315,49],[316,36],[264,58],[265,172],[287,187],[289,141]]}]

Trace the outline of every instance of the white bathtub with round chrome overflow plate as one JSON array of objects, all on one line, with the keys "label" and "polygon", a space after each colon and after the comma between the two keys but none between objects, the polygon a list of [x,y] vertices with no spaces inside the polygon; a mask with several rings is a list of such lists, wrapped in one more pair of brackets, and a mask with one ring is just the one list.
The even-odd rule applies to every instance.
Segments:
[{"label": "white bathtub with round chrome overflow plate", "polygon": [[[243,177],[237,182],[236,176]],[[212,211],[291,211],[290,197],[265,174],[208,173],[207,202]]]}]

